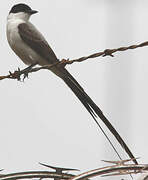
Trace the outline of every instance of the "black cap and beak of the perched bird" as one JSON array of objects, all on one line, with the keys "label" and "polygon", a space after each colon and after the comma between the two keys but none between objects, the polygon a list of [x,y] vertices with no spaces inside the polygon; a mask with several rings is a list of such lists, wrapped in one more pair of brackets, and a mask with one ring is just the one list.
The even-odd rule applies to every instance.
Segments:
[{"label": "black cap and beak of the perched bird", "polygon": [[28,5],[20,3],[20,4],[14,5],[11,8],[9,14],[10,13],[19,13],[19,12],[24,12],[24,13],[28,13],[28,14],[35,14],[38,11],[32,10]]}]

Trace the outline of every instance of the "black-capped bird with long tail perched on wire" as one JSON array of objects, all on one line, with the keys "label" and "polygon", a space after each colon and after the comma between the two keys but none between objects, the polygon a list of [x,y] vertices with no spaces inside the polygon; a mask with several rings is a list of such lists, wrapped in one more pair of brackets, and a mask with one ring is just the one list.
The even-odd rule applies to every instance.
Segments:
[{"label": "black-capped bird with long tail perched on wire", "polygon": [[[14,5],[7,17],[7,39],[12,50],[26,65],[52,65],[59,60],[43,35],[29,22],[30,16],[37,12],[38,11],[32,10],[26,4]],[[97,121],[97,117],[104,122],[129,157],[137,164],[136,159],[121,136],[66,68],[62,66],[53,66],[50,70],[68,85],[91,114],[98,126],[100,125]]]}]

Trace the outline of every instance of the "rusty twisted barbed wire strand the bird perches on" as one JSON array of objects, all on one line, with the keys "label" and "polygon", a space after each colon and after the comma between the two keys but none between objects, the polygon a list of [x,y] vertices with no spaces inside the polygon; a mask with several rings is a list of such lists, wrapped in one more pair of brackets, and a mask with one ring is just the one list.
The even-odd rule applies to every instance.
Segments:
[{"label": "rusty twisted barbed wire strand the bird perches on", "polygon": [[63,60],[58,61],[58,62],[56,62],[56,63],[54,63],[52,65],[46,65],[46,66],[36,67],[36,68],[25,68],[23,70],[18,69],[16,71],[14,71],[13,73],[11,73],[9,71],[8,75],[0,76],[0,80],[3,80],[3,79],[17,79],[17,80],[21,80],[21,78],[20,78],[21,75],[23,75],[23,79],[25,79],[26,77],[28,77],[29,73],[37,72],[37,71],[39,71],[41,69],[51,69],[53,66],[57,66],[57,65],[58,66],[66,66],[68,64],[73,64],[75,62],[82,62],[82,61],[85,61],[87,59],[96,58],[96,57],[99,57],[99,56],[103,56],[103,57],[111,56],[111,57],[114,57],[113,54],[115,52],[126,51],[126,50],[129,50],[129,49],[136,49],[136,48],[144,47],[144,46],[148,46],[148,41],[140,43],[140,44],[137,44],[137,45],[120,47],[120,48],[116,48],[116,49],[105,49],[104,51],[101,51],[101,52],[98,52],[98,53],[95,53],[95,54],[91,54],[89,56],[84,56],[84,57],[81,57],[81,58],[78,58],[78,59],[73,59],[73,60],[63,59]]}]

